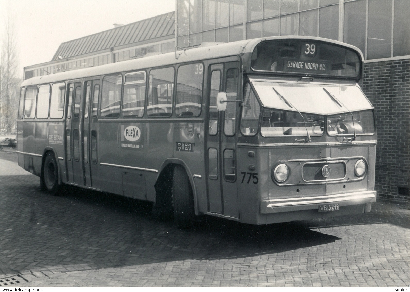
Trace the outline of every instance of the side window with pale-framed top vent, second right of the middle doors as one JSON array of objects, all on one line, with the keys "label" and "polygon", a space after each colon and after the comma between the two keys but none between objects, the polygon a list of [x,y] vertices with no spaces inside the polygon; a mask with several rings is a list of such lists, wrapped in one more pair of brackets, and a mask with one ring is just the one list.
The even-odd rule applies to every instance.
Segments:
[{"label": "side window with pale-framed top vent, second right of the middle doors", "polygon": [[123,117],[144,115],[145,87],[145,72],[125,75]]}]

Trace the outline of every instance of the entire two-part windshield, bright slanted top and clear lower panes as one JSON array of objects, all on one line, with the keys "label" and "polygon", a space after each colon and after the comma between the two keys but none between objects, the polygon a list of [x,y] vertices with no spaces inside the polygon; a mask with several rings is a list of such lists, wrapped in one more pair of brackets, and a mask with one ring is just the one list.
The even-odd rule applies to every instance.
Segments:
[{"label": "entire two-part windshield, bright slanted top and clear lower panes", "polygon": [[263,106],[262,136],[375,132],[373,107],[357,85],[250,80]]}]

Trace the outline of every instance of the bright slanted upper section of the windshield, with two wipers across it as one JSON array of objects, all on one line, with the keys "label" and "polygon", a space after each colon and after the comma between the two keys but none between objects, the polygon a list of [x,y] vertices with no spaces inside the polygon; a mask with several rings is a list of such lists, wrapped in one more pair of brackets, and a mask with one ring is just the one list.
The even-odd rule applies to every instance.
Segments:
[{"label": "bright slanted upper section of the windshield, with two wipers across it", "polygon": [[266,108],[296,111],[289,106],[291,104],[301,113],[322,116],[373,109],[357,85],[250,80]]}]

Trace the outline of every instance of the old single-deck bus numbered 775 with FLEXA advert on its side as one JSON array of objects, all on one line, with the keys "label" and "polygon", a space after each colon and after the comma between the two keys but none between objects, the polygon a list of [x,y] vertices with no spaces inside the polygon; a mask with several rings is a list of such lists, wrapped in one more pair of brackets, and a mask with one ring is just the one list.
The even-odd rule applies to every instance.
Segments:
[{"label": "old single-deck bus numbered 775 with FLEXA advert on its side", "polygon": [[64,184],[264,225],[369,212],[374,107],[363,55],[305,36],[208,43],[27,79],[18,164]]}]

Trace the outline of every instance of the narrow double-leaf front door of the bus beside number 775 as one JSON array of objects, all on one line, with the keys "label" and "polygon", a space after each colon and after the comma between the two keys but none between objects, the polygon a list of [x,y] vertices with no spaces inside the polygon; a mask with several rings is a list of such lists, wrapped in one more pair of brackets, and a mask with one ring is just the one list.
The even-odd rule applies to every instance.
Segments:
[{"label": "narrow double-leaf front door of the bus beside number 775", "polygon": [[[213,64],[208,71],[209,121],[207,133],[208,211],[238,218],[236,130],[239,113],[239,62]],[[216,94],[226,92],[225,112],[216,109]]]}]

